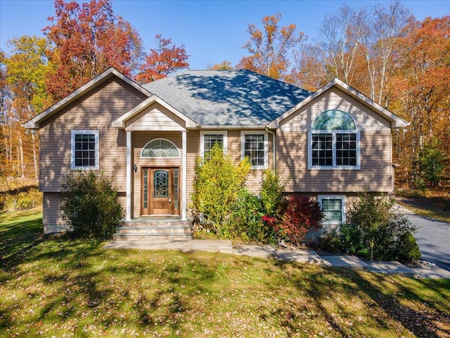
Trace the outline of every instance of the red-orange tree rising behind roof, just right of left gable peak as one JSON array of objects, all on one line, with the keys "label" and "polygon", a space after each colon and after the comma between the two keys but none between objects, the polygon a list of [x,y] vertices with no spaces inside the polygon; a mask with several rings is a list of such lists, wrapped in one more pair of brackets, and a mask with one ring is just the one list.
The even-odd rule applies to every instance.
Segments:
[{"label": "red-orange tree rising behind roof, just right of left gable peak", "polygon": [[176,46],[172,39],[164,39],[161,34],[156,35],[155,39],[157,47],[150,49],[145,63],[141,65],[141,73],[136,76],[138,82],[152,82],[189,67],[184,44]]}]

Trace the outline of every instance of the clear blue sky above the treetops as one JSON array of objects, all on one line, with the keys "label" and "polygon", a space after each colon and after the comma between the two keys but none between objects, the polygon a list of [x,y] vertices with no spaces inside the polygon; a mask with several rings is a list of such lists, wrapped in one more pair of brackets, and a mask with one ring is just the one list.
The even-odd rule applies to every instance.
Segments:
[{"label": "clear blue sky above the treetops", "polygon": [[[388,1],[347,1],[352,7],[373,6]],[[416,18],[450,14],[449,0],[401,1]],[[184,44],[191,69],[207,68],[229,60],[234,65],[245,55],[250,23],[261,27],[266,15],[281,13],[280,25],[295,23],[314,40],[323,16],[335,12],[343,1],[150,1],[113,0],[113,11],[128,20],[141,35],[146,51],[155,46],[155,35]],[[54,14],[51,0],[0,0],[0,48],[6,40],[21,35],[43,36]]]}]

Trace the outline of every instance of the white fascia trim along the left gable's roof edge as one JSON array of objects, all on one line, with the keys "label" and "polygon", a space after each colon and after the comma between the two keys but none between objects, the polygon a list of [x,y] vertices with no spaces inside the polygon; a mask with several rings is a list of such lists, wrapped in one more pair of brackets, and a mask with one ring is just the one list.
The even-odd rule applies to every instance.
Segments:
[{"label": "white fascia trim along the left gable's roof edge", "polygon": [[47,118],[51,117],[51,115],[58,112],[60,108],[63,108],[70,104],[72,101],[75,101],[79,98],[79,96],[82,96],[86,92],[89,92],[89,90],[96,87],[96,85],[100,84],[105,80],[106,78],[110,77],[111,75],[115,75],[119,77],[121,80],[124,80],[124,82],[127,82],[131,87],[134,87],[135,89],[139,90],[139,92],[145,94],[146,96],[150,96],[151,93],[148,92],[148,90],[141,87],[139,84],[131,80],[129,77],[126,77],[122,73],[120,73],[115,68],[111,67],[105,70],[100,75],[94,77],[91,81],[87,82],[86,84],[83,84],[82,87],[79,87],[75,92],[72,92],[72,94],[69,94],[68,96],[65,96],[64,99],[61,99],[60,101],[56,102],[56,104],[53,104],[53,106],[47,108],[45,111],[40,113],[39,115],[34,116],[34,118],[28,120],[23,124],[23,127],[28,129],[39,129],[39,123],[46,120]]}]

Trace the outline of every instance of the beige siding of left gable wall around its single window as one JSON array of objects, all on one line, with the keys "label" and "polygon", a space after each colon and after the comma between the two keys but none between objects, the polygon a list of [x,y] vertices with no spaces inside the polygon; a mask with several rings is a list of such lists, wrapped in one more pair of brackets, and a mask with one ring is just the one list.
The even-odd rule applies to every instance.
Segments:
[{"label": "beige siding of left gable wall around its single window", "polygon": [[71,130],[98,130],[100,168],[112,175],[119,192],[125,192],[126,133],[111,127],[111,123],[145,97],[126,82],[114,78],[47,120],[39,132],[41,191],[60,191],[63,178],[71,171]]}]

